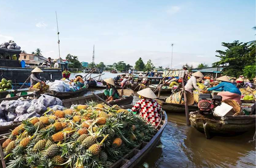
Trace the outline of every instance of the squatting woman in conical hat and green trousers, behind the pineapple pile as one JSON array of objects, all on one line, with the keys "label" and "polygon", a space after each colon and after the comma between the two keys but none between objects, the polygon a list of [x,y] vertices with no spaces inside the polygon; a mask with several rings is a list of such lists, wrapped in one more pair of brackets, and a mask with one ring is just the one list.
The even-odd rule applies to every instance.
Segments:
[{"label": "squatting woman in conical hat and green trousers, behind the pineapple pile", "polygon": [[115,87],[114,80],[112,78],[104,79],[107,83],[107,88],[104,90],[104,95],[108,99],[106,101],[113,101],[119,98],[117,88]]}]

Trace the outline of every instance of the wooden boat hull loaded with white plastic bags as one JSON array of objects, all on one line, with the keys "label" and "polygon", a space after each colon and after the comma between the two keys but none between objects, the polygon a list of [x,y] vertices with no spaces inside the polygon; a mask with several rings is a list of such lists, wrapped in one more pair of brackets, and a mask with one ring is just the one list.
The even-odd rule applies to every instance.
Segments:
[{"label": "wooden boat hull loaded with white plastic bags", "polygon": [[84,89],[81,89],[81,90],[78,90],[78,91],[67,91],[67,92],[57,92],[57,91],[50,91],[50,90],[47,90],[45,92],[45,94],[47,95],[50,95],[50,96],[54,96],[54,97],[57,97],[57,98],[60,98],[60,99],[67,99],[67,98],[72,98],[74,96],[79,96],[79,95],[82,95],[84,94],[88,89],[88,85],[87,85],[87,88],[84,88]]}]

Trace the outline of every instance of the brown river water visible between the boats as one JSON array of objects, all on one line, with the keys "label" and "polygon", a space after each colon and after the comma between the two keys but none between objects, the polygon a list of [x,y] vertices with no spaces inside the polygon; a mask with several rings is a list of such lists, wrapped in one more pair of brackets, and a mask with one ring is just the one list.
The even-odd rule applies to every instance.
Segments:
[{"label": "brown river water visible between the boats", "polygon": [[[102,79],[115,77],[117,74],[104,72]],[[84,76],[84,73],[77,73]],[[71,78],[77,74],[71,74]],[[92,74],[97,76],[98,74]],[[94,89],[91,92],[100,93]],[[138,97],[134,96],[134,102]],[[148,164],[148,168],[255,168],[255,130],[235,137],[215,136],[210,140],[195,128],[186,126],[185,113],[167,113],[168,123],[158,145],[139,163],[139,168]],[[146,166],[147,167],[147,166]]]}]

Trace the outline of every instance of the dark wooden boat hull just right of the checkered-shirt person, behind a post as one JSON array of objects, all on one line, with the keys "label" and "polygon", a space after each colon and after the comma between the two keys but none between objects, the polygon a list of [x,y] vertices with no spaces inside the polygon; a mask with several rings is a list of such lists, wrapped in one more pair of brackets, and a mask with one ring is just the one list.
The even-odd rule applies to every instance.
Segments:
[{"label": "dark wooden boat hull just right of the checkered-shirt person, behind a post", "polygon": [[[166,103],[159,99],[155,99],[158,104],[162,106],[162,109],[167,113],[184,113],[185,114],[185,104],[175,104],[175,103]],[[189,112],[198,110],[197,106],[189,105]]]}]

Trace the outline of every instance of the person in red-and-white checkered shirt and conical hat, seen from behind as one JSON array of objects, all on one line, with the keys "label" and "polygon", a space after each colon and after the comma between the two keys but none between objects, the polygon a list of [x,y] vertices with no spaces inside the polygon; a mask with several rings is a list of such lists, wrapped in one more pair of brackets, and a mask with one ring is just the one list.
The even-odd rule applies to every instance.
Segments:
[{"label": "person in red-and-white checkered shirt and conical hat, seen from behind", "polygon": [[139,112],[139,115],[151,125],[158,125],[162,107],[154,100],[157,98],[155,93],[150,88],[142,89],[137,93],[140,95],[140,100],[133,106],[132,111]]}]

